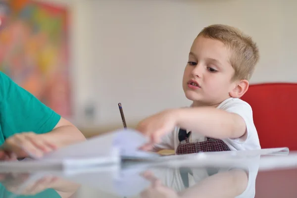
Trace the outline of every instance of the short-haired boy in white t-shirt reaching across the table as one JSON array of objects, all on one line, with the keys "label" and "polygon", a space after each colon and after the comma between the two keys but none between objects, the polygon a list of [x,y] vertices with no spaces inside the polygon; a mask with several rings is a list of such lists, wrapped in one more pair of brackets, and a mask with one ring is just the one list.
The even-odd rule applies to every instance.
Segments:
[{"label": "short-haired boy in white t-shirt reaching across the table", "polygon": [[256,44],[240,30],[220,24],[204,28],[183,76],[191,108],[168,109],[141,121],[137,130],[150,137],[142,149],[177,154],[260,149],[251,107],[240,99],[258,59]]}]

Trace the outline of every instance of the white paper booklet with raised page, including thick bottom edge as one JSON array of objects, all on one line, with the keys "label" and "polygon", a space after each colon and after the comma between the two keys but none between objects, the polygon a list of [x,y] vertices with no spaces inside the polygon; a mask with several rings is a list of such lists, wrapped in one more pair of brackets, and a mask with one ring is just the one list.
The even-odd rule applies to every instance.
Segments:
[{"label": "white paper booklet with raised page, including thick bottom edge", "polygon": [[84,167],[98,164],[119,163],[125,158],[146,158],[158,156],[155,153],[138,151],[147,139],[132,129],[121,129],[88,139],[53,151],[40,161],[61,161],[65,168]]}]

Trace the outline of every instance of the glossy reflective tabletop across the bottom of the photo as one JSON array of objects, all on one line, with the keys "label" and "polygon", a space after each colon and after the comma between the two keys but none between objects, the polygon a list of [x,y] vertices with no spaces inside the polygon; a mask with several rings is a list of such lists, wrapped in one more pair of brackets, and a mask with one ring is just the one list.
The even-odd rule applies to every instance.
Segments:
[{"label": "glossy reflective tabletop across the bottom of the photo", "polygon": [[292,151],[228,163],[123,161],[79,170],[0,172],[0,198],[297,197],[297,152]]}]

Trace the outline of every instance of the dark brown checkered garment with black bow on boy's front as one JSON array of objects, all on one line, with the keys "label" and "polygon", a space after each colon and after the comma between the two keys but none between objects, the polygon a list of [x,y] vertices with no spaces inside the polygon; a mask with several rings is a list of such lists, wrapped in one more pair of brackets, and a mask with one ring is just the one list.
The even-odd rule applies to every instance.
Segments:
[{"label": "dark brown checkered garment with black bow on boy's front", "polygon": [[[180,144],[176,149],[177,154],[190,154],[197,152],[214,152],[214,151],[228,151],[230,148],[219,139],[207,138],[204,142],[189,143],[189,136],[191,132],[187,133],[186,130],[180,129],[179,141]],[[185,140],[185,143],[181,143]]]}]

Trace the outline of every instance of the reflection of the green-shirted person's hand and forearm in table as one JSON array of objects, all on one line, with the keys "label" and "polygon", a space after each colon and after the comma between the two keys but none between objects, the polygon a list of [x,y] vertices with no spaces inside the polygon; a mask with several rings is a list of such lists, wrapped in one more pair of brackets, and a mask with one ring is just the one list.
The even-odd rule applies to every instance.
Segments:
[{"label": "reflection of the green-shirted person's hand and forearm in table", "polygon": [[15,194],[20,193],[21,195],[36,195],[47,189],[53,189],[61,196],[61,198],[69,198],[79,188],[78,184],[49,175],[29,183],[25,189],[18,192],[21,186],[28,181],[29,178],[30,174],[28,173],[0,174],[1,184],[7,191]]}]

